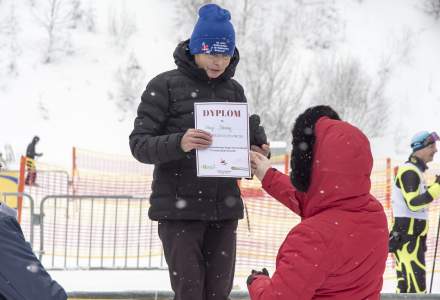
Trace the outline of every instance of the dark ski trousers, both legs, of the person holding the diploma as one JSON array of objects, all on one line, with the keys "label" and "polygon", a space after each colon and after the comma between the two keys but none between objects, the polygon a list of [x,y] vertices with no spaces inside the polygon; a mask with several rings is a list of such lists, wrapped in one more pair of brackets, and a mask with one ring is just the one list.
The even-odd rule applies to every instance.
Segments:
[{"label": "dark ski trousers, both legs, of the person holding the diploma", "polygon": [[227,300],[238,220],[159,221],[174,300]]}]

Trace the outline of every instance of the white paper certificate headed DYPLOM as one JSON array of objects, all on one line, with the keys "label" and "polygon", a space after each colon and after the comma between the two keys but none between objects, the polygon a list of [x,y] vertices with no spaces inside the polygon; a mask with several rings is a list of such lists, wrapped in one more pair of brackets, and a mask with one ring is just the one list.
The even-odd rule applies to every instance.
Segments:
[{"label": "white paper certificate headed DYPLOM", "polygon": [[207,149],[196,150],[199,177],[251,177],[247,103],[196,102],[195,128],[212,134]]}]

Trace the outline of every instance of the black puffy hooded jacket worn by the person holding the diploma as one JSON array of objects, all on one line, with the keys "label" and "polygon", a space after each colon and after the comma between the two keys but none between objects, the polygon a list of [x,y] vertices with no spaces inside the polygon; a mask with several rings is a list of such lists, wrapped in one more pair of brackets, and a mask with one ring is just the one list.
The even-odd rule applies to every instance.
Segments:
[{"label": "black puffy hooded jacket worn by the person holding the diploma", "polygon": [[195,151],[180,147],[194,128],[194,102],[246,102],[241,85],[231,79],[238,51],[225,72],[209,79],[189,53],[188,42],[174,51],[176,70],[153,78],[142,94],[130,148],[140,162],[154,164],[148,215],[153,220],[228,220],[243,218],[237,179],[197,177]]}]

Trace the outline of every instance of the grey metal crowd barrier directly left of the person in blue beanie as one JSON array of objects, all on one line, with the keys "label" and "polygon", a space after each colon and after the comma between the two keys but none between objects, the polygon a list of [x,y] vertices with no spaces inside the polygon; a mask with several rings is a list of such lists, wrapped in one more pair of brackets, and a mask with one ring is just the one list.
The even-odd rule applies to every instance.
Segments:
[{"label": "grey metal crowd barrier directly left of the person in blue beanie", "polygon": [[164,268],[146,198],[51,195],[41,200],[40,260],[47,269]]}]

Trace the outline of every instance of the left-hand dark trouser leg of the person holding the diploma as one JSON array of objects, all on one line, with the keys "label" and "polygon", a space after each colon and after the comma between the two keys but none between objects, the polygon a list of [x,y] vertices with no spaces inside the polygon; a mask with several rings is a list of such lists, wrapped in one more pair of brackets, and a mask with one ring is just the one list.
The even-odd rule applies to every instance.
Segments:
[{"label": "left-hand dark trouser leg of the person holding the diploma", "polygon": [[202,254],[206,223],[160,221],[159,237],[170,273],[174,300],[205,300],[205,262]]}]

